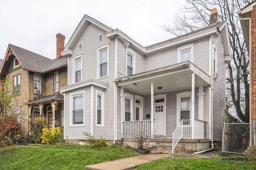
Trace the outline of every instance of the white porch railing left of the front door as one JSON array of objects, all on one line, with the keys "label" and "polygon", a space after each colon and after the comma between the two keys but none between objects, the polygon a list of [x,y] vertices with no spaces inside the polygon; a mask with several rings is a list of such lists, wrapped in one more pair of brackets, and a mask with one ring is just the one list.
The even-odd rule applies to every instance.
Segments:
[{"label": "white porch railing left of the front door", "polygon": [[151,138],[151,135],[151,120],[123,122],[123,138]]}]

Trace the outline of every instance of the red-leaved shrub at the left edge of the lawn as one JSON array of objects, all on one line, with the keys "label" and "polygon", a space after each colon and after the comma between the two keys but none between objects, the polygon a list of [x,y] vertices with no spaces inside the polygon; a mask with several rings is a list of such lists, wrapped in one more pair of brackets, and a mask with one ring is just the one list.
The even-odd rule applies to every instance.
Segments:
[{"label": "red-leaved shrub at the left edge of the lawn", "polygon": [[0,147],[18,143],[20,137],[20,123],[17,117],[0,116]]}]

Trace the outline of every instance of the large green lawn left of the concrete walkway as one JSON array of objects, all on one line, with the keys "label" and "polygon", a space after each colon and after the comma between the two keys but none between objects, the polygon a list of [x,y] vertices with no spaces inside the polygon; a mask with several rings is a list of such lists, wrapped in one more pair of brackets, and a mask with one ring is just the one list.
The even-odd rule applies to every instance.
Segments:
[{"label": "large green lawn left of the concrete walkway", "polygon": [[84,170],[84,166],[137,155],[123,147],[89,149],[79,145],[0,148],[1,170]]}]

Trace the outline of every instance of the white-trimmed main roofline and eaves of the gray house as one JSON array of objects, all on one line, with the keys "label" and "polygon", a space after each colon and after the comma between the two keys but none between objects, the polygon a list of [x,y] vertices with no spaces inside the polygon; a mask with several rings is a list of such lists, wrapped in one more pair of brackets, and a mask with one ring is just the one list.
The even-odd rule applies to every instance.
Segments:
[{"label": "white-trimmed main roofline and eaves of the gray house", "polygon": [[115,37],[118,37],[118,39],[120,39],[126,47],[129,46],[130,48],[134,49],[135,51],[138,51],[139,53],[145,56],[151,55],[153,53],[158,53],[166,49],[174,48],[178,45],[182,45],[185,43],[191,43],[198,39],[209,37],[210,35],[214,35],[214,37],[222,36],[222,41],[223,41],[222,43],[224,46],[224,56],[228,57],[231,55],[230,42],[228,37],[228,25],[226,21],[220,21],[215,25],[210,25],[173,39],[169,39],[166,41],[162,41],[160,43],[143,47],[142,45],[134,41],[132,38],[130,38],[128,35],[120,31],[119,29],[111,29],[110,27],[100,23],[99,21],[84,15],[78,27],[74,31],[72,37],[68,41],[66,47],[62,51],[61,53],[62,56],[72,55],[73,53],[72,49],[74,48],[74,45],[76,44],[80,36],[82,35],[84,29],[86,29],[88,23],[92,23],[97,27],[100,27],[101,29],[106,31],[107,38],[113,39]]}]

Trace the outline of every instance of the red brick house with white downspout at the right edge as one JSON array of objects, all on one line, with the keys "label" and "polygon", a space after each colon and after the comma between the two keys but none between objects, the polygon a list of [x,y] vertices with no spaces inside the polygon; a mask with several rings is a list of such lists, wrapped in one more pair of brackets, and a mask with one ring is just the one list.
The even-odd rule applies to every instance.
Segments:
[{"label": "red brick house with white downspout at the right edge", "polygon": [[250,58],[250,123],[256,121],[256,1],[238,12]]}]

